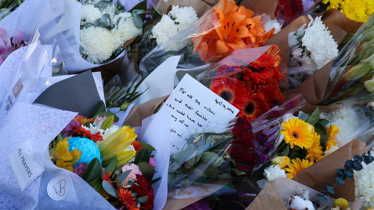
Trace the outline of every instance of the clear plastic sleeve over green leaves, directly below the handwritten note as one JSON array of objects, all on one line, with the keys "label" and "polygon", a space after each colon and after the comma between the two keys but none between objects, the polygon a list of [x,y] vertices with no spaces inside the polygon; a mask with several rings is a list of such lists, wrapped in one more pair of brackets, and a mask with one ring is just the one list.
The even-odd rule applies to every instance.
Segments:
[{"label": "clear plastic sleeve over green leaves, directly below the handwritten note", "polygon": [[[174,198],[201,198],[223,188],[231,180],[229,150],[233,143],[233,122],[220,126],[225,129],[208,129],[211,132],[195,133],[188,138],[182,151],[170,155],[168,196]],[[219,192],[230,194],[235,190],[224,188]]]}]

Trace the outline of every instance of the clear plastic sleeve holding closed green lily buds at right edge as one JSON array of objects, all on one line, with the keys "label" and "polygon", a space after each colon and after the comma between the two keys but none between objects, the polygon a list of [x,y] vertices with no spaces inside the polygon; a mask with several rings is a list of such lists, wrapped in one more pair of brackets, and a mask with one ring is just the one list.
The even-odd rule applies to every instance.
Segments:
[{"label": "clear plastic sleeve holding closed green lily buds at right edge", "polygon": [[335,58],[323,105],[373,98],[373,22],[371,15]]}]

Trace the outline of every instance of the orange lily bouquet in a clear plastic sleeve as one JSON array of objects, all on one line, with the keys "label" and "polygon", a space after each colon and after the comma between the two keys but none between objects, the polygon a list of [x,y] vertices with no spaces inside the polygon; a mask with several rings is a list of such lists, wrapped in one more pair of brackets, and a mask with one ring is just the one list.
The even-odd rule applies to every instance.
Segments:
[{"label": "orange lily bouquet in a clear plastic sleeve", "polygon": [[263,46],[274,29],[265,31],[261,16],[253,15],[233,0],[220,0],[195,24],[151,50],[142,58],[140,70],[148,75],[171,55],[182,56],[178,67],[194,68],[219,61],[237,49]]}]

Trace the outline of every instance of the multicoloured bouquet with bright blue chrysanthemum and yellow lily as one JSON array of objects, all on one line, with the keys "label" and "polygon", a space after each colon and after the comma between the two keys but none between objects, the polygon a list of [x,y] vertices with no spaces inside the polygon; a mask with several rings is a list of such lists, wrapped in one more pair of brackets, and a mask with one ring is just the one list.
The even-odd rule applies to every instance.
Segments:
[{"label": "multicoloured bouquet with bright blue chrysanthemum and yellow lily", "polygon": [[94,115],[70,121],[50,143],[51,160],[82,177],[114,207],[153,209],[152,183],[160,179],[153,180],[155,149],[140,142],[131,127],[117,126],[116,115]]}]

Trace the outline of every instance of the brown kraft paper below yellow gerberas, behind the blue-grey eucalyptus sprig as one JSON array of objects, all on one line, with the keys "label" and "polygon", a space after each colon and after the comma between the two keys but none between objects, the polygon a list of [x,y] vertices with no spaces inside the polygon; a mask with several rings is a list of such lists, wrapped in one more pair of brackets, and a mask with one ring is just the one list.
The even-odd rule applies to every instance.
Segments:
[{"label": "brown kraft paper below yellow gerberas, behind the blue-grey eucalyptus sprig", "polygon": [[[314,163],[312,166],[298,173],[293,180],[316,190],[323,190],[323,186],[329,183],[328,179],[335,180],[337,170],[344,169],[347,160],[352,160],[354,155],[365,152],[365,143],[354,139]],[[355,179],[346,179],[345,188],[336,186],[332,198],[345,198],[347,201],[355,201]]]}]

